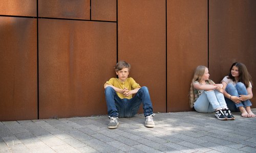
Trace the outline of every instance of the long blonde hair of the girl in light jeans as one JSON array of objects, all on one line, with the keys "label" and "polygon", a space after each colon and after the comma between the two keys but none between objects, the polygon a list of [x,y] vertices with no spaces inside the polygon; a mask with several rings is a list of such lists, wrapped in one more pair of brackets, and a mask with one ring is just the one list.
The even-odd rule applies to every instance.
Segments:
[{"label": "long blonde hair of the girl in light jeans", "polygon": [[[194,70],[194,77],[193,79],[191,80],[191,83],[190,83],[190,91],[189,91],[189,105],[190,105],[190,108],[193,108],[194,106],[194,87],[193,87],[193,83],[195,81],[200,81],[202,80],[202,77],[204,75],[204,72],[205,72],[205,69],[207,67],[206,66],[198,66],[195,70]],[[214,82],[212,82],[211,80],[207,81],[209,84],[214,84]]]}]

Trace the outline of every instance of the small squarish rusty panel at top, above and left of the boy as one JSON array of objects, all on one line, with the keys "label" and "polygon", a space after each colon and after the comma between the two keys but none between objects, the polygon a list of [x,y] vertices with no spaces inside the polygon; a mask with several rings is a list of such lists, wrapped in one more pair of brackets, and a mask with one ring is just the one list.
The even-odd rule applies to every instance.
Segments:
[{"label": "small squarish rusty panel at top, above and left of the boy", "polygon": [[117,0],[92,0],[92,20],[116,21]]}]

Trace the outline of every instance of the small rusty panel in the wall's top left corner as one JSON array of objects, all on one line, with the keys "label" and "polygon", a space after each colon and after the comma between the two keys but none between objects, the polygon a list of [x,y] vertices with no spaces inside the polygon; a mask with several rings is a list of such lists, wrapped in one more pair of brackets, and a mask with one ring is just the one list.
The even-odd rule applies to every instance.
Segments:
[{"label": "small rusty panel in the wall's top left corner", "polygon": [[0,15],[36,16],[36,0],[1,0]]}]

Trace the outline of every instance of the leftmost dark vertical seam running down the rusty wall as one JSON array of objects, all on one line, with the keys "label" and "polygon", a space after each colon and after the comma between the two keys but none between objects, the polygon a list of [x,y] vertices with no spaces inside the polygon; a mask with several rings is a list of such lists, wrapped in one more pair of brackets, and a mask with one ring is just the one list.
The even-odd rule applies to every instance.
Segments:
[{"label": "leftmost dark vertical seam running down the rusty wall", "polygon": [[39,48],[38,48],[38,0],[36,1],[36,43],[37,43],[37,119],[39,119]]}]

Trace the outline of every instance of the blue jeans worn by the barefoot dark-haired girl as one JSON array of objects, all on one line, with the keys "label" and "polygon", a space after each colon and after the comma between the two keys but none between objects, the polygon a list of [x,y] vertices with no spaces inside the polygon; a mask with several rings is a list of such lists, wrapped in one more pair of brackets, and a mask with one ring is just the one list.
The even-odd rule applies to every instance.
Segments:
[{"label": "blue jeans worn by the barefoot dark-haired girl", "polygon": [[[248,94],[245,85],[241,82],[237,83],[236,85],[233,85],[231,83],[227,84],[226,92],[232,96],[237,96],[237,97],[239,97],[239,95],[242,95],[242,94],[243,95]],[[230,111],[233,111],[233,112],[239,112],[238,107],[251,106],[250,100],[241,101],[241,103],[239,104],[234,103],[232,100],[226,97],[225,97],[225,100],[228,108],[230,109]]]}]

